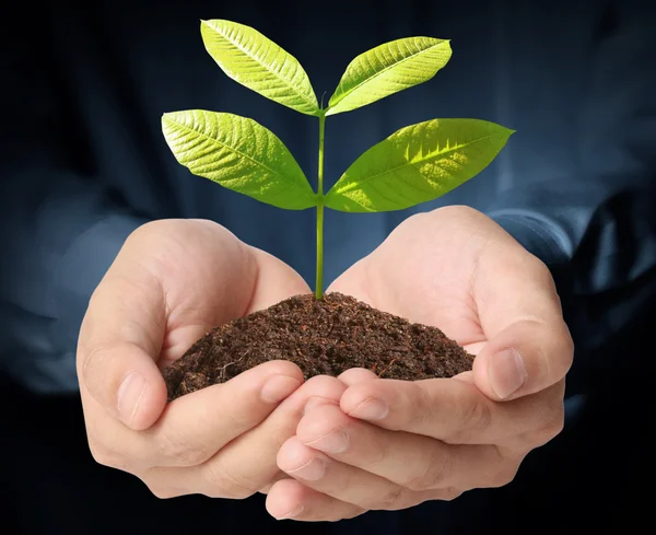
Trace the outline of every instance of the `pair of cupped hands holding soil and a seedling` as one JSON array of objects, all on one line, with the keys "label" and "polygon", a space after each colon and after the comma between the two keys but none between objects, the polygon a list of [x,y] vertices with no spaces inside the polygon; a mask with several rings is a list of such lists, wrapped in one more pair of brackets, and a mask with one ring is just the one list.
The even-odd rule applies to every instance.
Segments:
[{"label": "pair of cupped hands holding soil and a seedling", "polygon": [[215,223],[137,230],[80,334],[94,458],[161,498],[260,491],[274,517],[336,521],[503,486],[562,429],[573,345],[551,275],[465,207],[409,218],[328,291],[440,327],[477,354],[471,372],[402,382],[353,369],[303,382],[272,361],[166,404],[161,369],[204,333],[309,291]]}]

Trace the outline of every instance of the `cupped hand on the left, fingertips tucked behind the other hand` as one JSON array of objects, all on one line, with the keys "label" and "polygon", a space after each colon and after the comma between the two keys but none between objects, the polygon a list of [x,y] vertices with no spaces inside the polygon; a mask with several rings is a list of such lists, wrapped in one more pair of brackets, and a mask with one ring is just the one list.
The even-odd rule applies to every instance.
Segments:
[{"label": "cupped hand on the left, fingertips tucked behind the other hand", "polygon": [[212,327],[305,292],[291,268],[215,223],[137,230],[80,333],[78,375],[95,460],[137,475],[159,497],[245,498],[272,484],[278,450],[305,404],[338,403],[344,385],[332,377],[302,385],[297,367],[274,361],[167,405],[159,368]]}]

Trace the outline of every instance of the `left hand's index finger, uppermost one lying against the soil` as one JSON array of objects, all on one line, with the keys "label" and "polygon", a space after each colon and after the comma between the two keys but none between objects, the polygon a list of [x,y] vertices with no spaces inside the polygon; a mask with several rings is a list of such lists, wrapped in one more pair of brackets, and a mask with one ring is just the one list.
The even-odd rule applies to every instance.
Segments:
[{"label": "left hand's index finger, uppermost one lying against the soil", "polygon": [[301,386],[303,373],[292,362],[270,361],[223,384],[169,403],[145,432],[156,466],[195,466],[235,438],[261,423]]}]

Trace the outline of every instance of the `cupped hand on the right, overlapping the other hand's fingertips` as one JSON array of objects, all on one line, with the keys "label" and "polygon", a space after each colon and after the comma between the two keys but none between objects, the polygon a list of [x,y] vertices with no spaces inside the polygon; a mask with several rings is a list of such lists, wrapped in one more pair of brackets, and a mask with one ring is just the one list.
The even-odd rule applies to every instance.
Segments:
[{"label": "cupped hand on the right, overlapping the other hand's fingertips", "polygon": [[503,486],[562,429],[573,344],[553,280],[480,212],[409,218],[329,290],[437,326],[477,358],[448,380],[358,371],[340,408],[308,411],[283,444],[278,465],[294,479],[271,488],[273,516],[338,520]]}]

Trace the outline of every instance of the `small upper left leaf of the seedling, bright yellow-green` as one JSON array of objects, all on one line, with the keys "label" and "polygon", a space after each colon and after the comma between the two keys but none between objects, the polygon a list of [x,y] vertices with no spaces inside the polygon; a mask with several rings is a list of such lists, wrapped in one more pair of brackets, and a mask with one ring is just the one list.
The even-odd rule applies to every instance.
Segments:
[{"label": "small upper left leaf of the seedling, bright yellow-green", "polygon": [[222,20],[201,21],[200,33],[206,49],[230,78],[283,106],[317,115],[319,105],[307,73],[271,39]]}]

